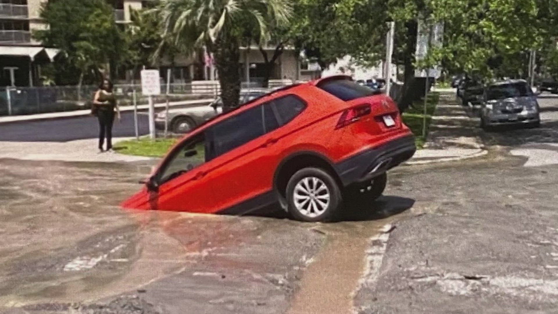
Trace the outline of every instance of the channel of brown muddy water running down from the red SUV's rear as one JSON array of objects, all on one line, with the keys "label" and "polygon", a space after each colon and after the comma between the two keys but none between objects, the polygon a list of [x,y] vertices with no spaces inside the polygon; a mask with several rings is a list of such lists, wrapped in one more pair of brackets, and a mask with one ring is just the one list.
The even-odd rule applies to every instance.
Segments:
[{"label": "channel of brown muddy water running down from the red SUV's rear", "polygon": [[348,212],[341,217],[347,221],[320,225],[328,240],[306,269],[287,313],[353,313],[354,294],[367,272],[365,255],[371,238],[385,232],[392,222],[413,215],[407,211],[413,203],[401,197],[382,197],[367,204],[348,202]]}]

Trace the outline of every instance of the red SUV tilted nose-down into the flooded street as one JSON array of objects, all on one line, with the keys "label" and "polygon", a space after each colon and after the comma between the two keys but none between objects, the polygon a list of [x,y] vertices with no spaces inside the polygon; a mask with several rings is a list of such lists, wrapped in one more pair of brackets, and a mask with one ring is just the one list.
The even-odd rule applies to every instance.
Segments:
[{"label": "red SUV tilted nose-down into the flooded street", "polygon": [[295,84],[217,116],[180,140],[122,206],[242,215],[280,203],[324,221],[343,199],[373,200],[415,154],[391,98],[339,75]]}]

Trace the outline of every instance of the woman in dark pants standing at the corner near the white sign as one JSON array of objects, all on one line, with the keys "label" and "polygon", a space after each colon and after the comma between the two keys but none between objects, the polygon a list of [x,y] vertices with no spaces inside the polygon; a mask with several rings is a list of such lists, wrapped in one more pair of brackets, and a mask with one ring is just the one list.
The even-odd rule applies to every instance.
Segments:
[{"label": "woman in dark pants standing at the corner near the white sign", "polygon": [[95,93],[93,99],[93,114],[99,120],[99,150],[103,153],[103,144],[105,137],[107,139],[107,151],[112,151],[112,126],[114,124],[114,111],[121,120],[120,108],[112,91],[112,82],[104,79],[99,86],[99,90]]}]

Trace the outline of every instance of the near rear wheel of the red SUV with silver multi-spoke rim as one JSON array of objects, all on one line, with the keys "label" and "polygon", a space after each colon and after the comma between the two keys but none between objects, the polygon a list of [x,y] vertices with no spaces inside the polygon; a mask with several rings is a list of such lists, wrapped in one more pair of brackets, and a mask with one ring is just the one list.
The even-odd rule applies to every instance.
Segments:
[{"label": "near rear wheel of the red SUV with silver multi-spoke rim", "polygon": [[[320,183],[316,184],[316,186],[313,186],[314,183],[311,182],[312,178],[319,179]],[[325,195],[323,194],[324,191],[315,194],[308,193],[309,197],[310,194],[315,195],[315,197],[308,199],[307,206],[311,207],[312,206],[311,202],[314,201],[316,207],[311,207],[310,210],[305,211],[304,201],[302,202],[299,201],[298,202],[299,206],[297,206],[297,203],[295,202],[295,188],[297,189],[296,191],[297,196],[304,197],[305,193],[301,192],[298,188],[300,184],[302,184],[302,187],[305,186],[305,182],[304,182],[305,179],[309,179],[309,181],[306,183],[309,183],[310,189],[320,190],[322,186],[321,184],[325,185],[327,189],[326,192],[329,193],[329,202],[326,203],[325,208],[319,205],[318,203],[318,198],[320,198],[319,196]],[[337,182],[335,182],[335,179],[329,173],[319,168],[304,168],[297,171],[294,175],[292,175],[292,177],[288,180],[287,183],[286,196],[287,196],[288,212],[291,214],[291,216],[295,220],[307,221],[307,222],[328,221],[339,210],[339,207],[343,202],[343,197],[341,196],[341,190]],[[323,199],[320,199],[320,201],[323,201]],[[316,212],[314,208],[318,208],[318,207],[321,208],[322,210],[318,210],[318,212]],[[314,212],[313,214],[312,211]]]}]

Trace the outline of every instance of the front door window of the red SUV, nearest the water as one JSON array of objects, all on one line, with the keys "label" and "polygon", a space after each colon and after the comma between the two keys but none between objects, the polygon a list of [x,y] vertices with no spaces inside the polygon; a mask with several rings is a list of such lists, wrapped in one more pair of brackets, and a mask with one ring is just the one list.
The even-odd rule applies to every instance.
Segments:
[{"label": "front door window of the red SUV, nearest the water", "polygon": [[176,148],[157,173],[158,183],[165,183],[211,160],[210,142],[199,134]]}]

